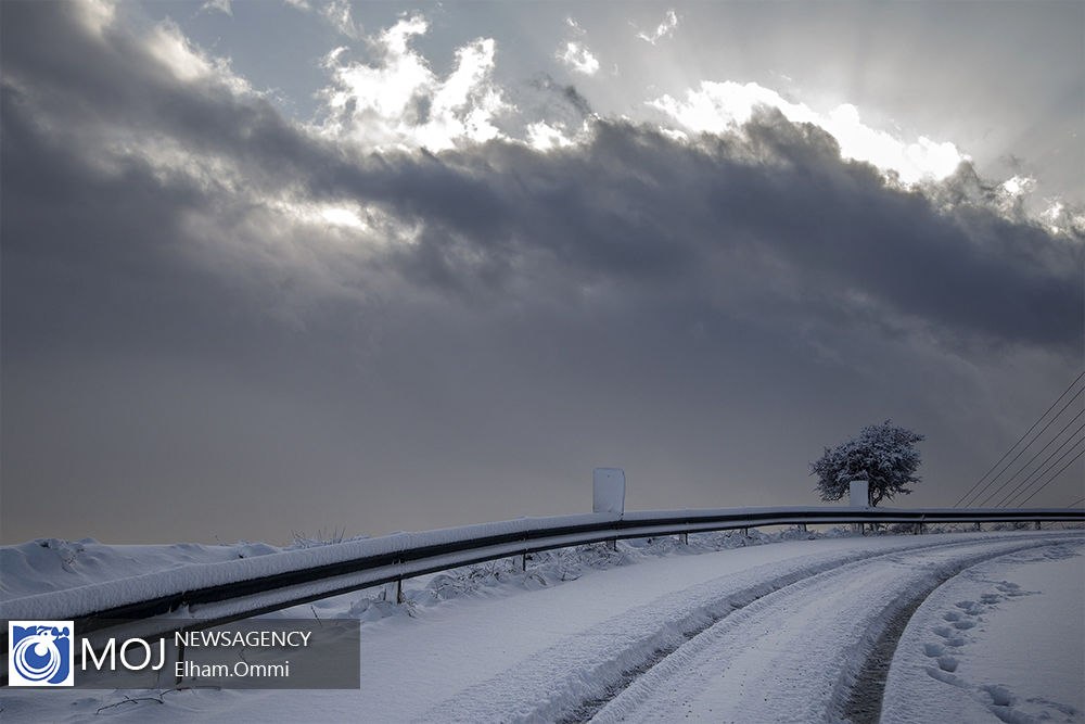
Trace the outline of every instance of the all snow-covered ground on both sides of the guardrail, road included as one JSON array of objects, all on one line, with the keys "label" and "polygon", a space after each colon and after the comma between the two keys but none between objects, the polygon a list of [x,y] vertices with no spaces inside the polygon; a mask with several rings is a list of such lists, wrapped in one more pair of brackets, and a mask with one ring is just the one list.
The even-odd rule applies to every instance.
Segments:
[{"label": "all snow-covered ground on both sides of the guardrail, road included", "polygon": [[[507,559],[410,580],[401,606],[380,588],[280,614],[360,618],[360,690],[3,690],[0,716],[1085,721],[1085,532],[752,534]],[[0,549],[2,596],[278,552],[29,543]]]}]

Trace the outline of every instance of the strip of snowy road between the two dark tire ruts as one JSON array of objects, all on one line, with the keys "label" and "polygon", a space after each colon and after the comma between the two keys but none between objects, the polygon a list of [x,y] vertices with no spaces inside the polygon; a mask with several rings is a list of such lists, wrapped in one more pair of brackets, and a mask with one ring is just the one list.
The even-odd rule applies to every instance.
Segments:
[{"label": "strip of snowy road between the two dark tire ruts", "polygon": [[[577,714],[587,719],[595,713],[600,721],[662,721],[684,715],[714,721],[877,719],[877,710],[869,713],[870,691],[858,685],[866,681],[868,662],[873,666],[873,652],[880,656],[879,644],[890,646],[898,639],[899,633],[895,638],[886,634],[893,619],[899,614],[907,623],[910,604],[918,607],[940,581],[965,568],[1051,542],[1045,536],[1027,543],[926,546],[918,551],[870,556],[804,576],[707,626],[688,644],[658,659],[647,673],[626,682],[602,709],[584,707]],[[992,550],[992,546],[997,549]],[[979,550],[963,557],[954,555],[954,549],[963,552],[969,547]],[[863,600],[866,581],[876,588],[867,596],[877,602],[872,608]],[[841,595],[842,589],[847,593]],[[802,619],[804,608],[821,606],[831,614],[838,611],[835,606],[850,600],[851,609],[843,615],[859,619],[854,624],[807,619],[803,621],[806,626],[821,625],[813,631],[788,631],[794,619]],[[741,659],[735,669],[732,659]],[[745,671],[743,666],[751,662],[760,664],[761,671]],[[702,696],[704,691],[709,695]],[[863,714],[861,709],[868,713]]]}]

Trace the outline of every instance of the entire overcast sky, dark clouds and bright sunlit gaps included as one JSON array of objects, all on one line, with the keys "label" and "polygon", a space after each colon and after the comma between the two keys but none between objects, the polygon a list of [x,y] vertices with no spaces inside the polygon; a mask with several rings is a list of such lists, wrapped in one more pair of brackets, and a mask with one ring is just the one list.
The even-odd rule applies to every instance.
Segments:
[{"label": "entire overcast sky, dark clouds and bright sunlit gaps included", "polygon": [[4,543],[945,506],[1085,366],[1080,2],[0,21]]}]

